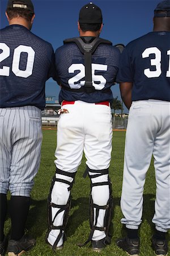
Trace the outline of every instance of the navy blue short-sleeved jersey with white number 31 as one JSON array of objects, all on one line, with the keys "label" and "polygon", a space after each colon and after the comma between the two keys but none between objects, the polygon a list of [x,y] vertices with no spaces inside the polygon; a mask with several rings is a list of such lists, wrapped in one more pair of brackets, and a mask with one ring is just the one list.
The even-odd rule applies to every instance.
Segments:
[{"label": "navy blue short-sleeved jersey with white number 31", "polygon": [[170,32],[150,32],[121,55],[117,82],[133,82],[132,100],[170,101]]}]

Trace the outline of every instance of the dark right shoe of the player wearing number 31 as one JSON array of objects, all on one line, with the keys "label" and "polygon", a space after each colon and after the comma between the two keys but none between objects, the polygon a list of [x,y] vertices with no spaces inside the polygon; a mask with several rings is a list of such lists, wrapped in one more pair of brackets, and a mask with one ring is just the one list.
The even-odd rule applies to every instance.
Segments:
[{"label": "dark right shoe of the player wearing number 31", "polygon": [[158,256],[168,255],[168,243],[167,240],[158,240],[154,236],[152,237],[152,248],[155,254]]}]

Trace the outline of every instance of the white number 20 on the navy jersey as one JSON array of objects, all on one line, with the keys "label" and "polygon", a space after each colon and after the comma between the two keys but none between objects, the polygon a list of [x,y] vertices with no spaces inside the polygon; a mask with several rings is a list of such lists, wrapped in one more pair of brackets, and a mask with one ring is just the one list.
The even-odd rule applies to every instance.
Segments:
[{"label": "white number 20 on the navy jersey", "polygon": [[[0,43],[0,62],[7,59],[10,56],[10,47],[5,43]],[[22,52],[27,53],[27,63],[25,70],[19,69],[20,57]],[[14,49],[14,55],[12,60],[12,72],[15,76],[27,78],[32,75],[33,64],[35,61],[35,51],[30,46],[18,46]],[[10,76],[10,67],[3,66],[0,68],[0,76]]]}]

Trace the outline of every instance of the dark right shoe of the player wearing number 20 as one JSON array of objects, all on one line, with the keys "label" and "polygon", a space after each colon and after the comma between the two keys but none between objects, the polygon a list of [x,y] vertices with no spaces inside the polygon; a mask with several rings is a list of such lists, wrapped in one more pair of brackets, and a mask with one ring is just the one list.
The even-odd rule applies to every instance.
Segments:
[{"label": "dark right shoe of the player wearing number 20", "polygon": [[9,240],[8,242],[8,256],[20,256],[25,251],[29,251],[35,246],[36,240],[23,236],[20,240]]}]

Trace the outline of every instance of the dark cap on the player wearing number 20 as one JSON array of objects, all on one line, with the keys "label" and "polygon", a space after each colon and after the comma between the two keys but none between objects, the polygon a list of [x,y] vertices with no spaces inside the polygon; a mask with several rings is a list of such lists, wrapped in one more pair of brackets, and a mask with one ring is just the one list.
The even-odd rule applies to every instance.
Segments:
[{"label": "dark cap on the player wearing number 20", "polygon": [[34,13],[31,0],[8,0],[7,8],[22,8]]}]

